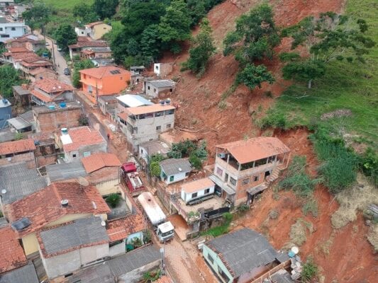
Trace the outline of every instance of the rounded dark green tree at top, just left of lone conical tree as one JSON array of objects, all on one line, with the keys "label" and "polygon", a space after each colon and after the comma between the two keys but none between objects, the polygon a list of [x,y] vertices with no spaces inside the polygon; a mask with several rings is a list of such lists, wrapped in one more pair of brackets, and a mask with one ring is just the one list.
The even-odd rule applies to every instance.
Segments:
[{"label": "rounded dark green tree at top, just left of lone conical tree", "polygon": [[[165,16],[160,18],[160,39],[172,52],[180,51],[178,42],[190,38],[191,18],[184,0],[172,0],[166,8]],[[172,48],[173,47],[173,48]]]}]

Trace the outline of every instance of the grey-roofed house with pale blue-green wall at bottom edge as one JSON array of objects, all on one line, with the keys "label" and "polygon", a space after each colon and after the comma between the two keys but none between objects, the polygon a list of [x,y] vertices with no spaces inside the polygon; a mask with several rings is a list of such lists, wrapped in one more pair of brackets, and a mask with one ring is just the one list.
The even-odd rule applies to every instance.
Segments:
[{"label": "grey-roofed house with pale blue-green wall at bottom edge", "polygon": [[287,253],[277,252],[265,236],[252,229],[241,229],[204,243],[202,255],[223,283],[253,282],[281,270],[281,266],[286,272],[283,267],[290,262]]}]

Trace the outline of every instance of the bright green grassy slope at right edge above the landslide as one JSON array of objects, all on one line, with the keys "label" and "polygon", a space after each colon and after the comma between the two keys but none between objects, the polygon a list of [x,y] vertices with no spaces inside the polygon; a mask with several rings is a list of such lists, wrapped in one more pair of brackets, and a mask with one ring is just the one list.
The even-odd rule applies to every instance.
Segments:
[{"label": "bright green grassy slope at right edge above the landslide", "polygon": [[[348,0],[346,13],[364,18],[369,24],[367,35],[377,45],[365,58],[366,64],[331,62],[326,76],[314,81],[308,90],[306,84],[294,83],[277,99],[269,115],[282,114],[289,127],[321,122],[335,134],[358,134],[370,145],[378,143],[378,17],[377,1]],[[323,113],[349,109],[351,117],[320,121]]]}]

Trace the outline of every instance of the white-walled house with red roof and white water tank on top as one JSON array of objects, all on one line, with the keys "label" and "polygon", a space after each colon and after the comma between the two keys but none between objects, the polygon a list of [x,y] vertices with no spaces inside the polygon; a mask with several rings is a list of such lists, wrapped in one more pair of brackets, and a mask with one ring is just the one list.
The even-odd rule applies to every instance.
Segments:
[{"label": "white-walled house with red roof and white water tank on top", "polygon": [[80,160],[91,154],[105,153],[108,149],[108,144],[101,133],[87,126],[71,129],[62,128],[59,136],[58,134],[55,134],[55,136],[55,141],[63,150],[64,159],[67,163]]}]

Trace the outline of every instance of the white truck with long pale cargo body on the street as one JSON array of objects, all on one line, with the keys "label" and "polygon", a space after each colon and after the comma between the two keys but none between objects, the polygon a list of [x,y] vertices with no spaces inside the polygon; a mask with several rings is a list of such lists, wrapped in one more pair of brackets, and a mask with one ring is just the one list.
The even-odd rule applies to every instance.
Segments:
[{"label": "white truck with long pale cargo body on the street", "polygon": [[162,212],[152,194],[150,192],[142,192],[138,196],[138,202],[148,216],[152,226],[154,226],[159,241],[164,243],[172,239],[174,236],[174,227],[170,221],[166,221],[167,216]]}]

